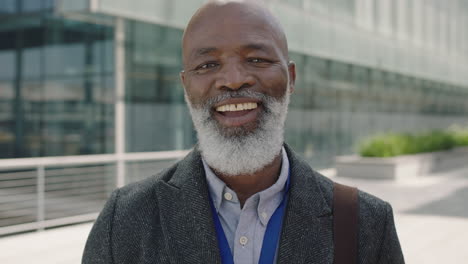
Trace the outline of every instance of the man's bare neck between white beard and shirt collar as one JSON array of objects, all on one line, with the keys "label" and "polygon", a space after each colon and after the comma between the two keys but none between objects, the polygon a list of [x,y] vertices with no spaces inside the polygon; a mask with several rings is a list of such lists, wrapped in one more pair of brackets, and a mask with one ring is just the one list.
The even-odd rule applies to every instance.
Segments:
[{"label": "man's bare neck between white beard and shirt collar", "polygon": [[243,207],[245,201],[250,196],[267,189],[278,180],[281,162],[282,156],[280,152],[270,164],[253,174],[232,176],[224,175],[217,171],[215,173],[229,188],[236,192],[241,207]]}]

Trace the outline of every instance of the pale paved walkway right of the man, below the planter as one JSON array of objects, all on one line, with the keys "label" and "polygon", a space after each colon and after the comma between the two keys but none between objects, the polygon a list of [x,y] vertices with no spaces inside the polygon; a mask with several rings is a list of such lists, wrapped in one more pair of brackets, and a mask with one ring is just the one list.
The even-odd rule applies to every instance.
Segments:
[{"label": "pale paved walkway right of the man, below the planter", "polygon": [[406,182],[332,178],[392,204],[406,263],[468,263],[468,167]]}]

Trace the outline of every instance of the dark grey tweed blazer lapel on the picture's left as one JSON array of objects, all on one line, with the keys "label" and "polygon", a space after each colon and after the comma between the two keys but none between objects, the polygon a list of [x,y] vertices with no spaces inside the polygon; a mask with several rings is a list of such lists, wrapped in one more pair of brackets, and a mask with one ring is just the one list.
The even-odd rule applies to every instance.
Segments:
[{"label": "dark grey tweed blazer lapel on the picture's left", "polygon": [[174,263],[221,263],[205,172],[197,150],[158,187],[161,226]]}]

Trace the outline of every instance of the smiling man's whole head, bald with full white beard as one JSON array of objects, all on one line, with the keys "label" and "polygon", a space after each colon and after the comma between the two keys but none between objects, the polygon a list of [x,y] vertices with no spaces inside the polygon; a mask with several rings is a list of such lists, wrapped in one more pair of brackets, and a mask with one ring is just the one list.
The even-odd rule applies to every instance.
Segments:
[{"label": "smiling man's whole head, bald with full white beard", "polygon": [[261,10],[233,4],[202,14],[184,35],[181,73],[199,149],[217,172],[251,174],[281,150],[295,66]]}]

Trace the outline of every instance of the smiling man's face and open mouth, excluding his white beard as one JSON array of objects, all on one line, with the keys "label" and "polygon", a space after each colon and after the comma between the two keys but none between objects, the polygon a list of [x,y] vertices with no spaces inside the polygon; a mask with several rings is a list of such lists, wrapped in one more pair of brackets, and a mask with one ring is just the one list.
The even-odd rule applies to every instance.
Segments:
[{"label": "smiling man's face and open mouth, excluding his white beard", "polygon": [[[295,79],[294,64],[288,63],[284,49],[274,28],[261,19],[219,13],[203,19],[184,41],[181,78],[188,99],[199,107],[245,90],[283,98]],[[210,113],[225,129],[255,129],[265,111],[258,98],[235,96],[212,103]]]}]

